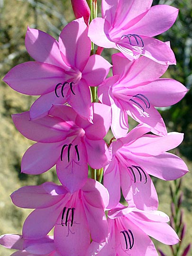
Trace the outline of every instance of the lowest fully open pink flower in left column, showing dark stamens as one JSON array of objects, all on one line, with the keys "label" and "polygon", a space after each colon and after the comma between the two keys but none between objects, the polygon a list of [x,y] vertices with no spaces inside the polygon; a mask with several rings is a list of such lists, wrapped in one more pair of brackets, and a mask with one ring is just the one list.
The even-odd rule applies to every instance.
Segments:
[{"label": "lowest fully open pink flower in left column, showing dark stamens", "polygon": [[97,181],[88,179],[73,194],[51,182],[26,186],[13,192],[11,199],[18,207],[36,209],[24,222],[23,238],[44,238],[55,227],[54,243],[62,256],[84,256],[90,234],[98,243],[107,239],[104,209],[109,203],[109,193]]}]

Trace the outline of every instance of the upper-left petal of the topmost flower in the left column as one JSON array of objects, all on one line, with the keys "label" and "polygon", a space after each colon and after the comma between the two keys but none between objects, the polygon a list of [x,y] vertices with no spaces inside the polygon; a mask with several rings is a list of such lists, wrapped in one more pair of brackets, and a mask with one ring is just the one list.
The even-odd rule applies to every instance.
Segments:
[{"label": "upper-left petal of the topmost flower in the left column", "polygon": [[58,42],[45,32],[27,27],[25,46],[27,52],[36,61],[52,64],[65,70],[69,68],[61,57]]}]

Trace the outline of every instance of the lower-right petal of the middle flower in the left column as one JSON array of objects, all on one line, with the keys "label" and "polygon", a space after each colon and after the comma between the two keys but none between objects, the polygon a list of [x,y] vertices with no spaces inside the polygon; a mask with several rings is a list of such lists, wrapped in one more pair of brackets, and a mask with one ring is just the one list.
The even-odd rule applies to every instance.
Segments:
[{"label": "lower-right petal of the middle flower in the left column", "polygon": [[104,140],[91,140],[85,137],[85,147],[89,165],[94,169],[100,169],[110,162],[110,154]]}]

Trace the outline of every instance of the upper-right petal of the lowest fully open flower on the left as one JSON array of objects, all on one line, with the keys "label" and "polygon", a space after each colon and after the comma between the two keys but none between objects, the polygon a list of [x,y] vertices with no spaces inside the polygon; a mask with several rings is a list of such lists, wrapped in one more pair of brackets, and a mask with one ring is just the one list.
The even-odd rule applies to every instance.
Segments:
[{"label": "upper-right petal of the lowest fully open flower on the left", "polygon": [[99,182],[88,179],[81,189],[86,204],[95,208],[105,209],[109,204],[109,193],[107,189]]}]

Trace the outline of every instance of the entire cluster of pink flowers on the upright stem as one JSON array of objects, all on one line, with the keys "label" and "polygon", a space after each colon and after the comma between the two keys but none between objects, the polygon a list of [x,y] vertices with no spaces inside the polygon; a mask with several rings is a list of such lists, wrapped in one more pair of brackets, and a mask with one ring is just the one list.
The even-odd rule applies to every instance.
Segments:
[{"label": "entire cluster of pink flowers on the upright stem", "polygon": [[[40,95],[29,111],[12,116],[18,131],[37,142],[23,155],[21,172],[42,174],[56,165],[61,185],[13,192],[16,206],[35,210],[22,236],[2,235],[0,244],[17,249],[12,256],[157,256],[149,236],[167,245],[179,238],[157,210],[149,175],[174,180],[188,172],[181,158],[166,152],[183,134],[167,133],[155,108],[187,92],[180,82],[160,78],[175,58],[169,42],[153,38],[174,24],[178,9],[151,7],[152,0],[102,0],[102,18],[89,25],[87,2],[72,3],[77,19],[58,41],[27,29],[26,48],[35,61],[3,79],[15,91]],[[90,55],[91,41],[97,54]],[[103,48],[120,51],[112,65]],[[91,94],[96,87],[99,102]],[[139,123],[129,132],[128,116]],[[110,128],[114,137],[106,144]],[[95,179],[88,178],[89,168]],[[121,190],[128,206],[119,203]]]}]

